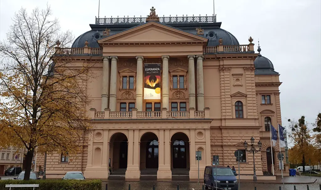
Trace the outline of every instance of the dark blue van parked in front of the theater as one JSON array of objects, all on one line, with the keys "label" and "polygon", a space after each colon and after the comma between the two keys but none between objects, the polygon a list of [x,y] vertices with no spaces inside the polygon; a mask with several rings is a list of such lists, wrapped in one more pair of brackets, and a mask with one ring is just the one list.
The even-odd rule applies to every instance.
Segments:
[{"label": "dark blue van parked in front of the theater", "polygon": [[[215,166],[206,166],[204,171],[205,189],[214,190],[217,182],[217,189],[238,190],[238,180],[231,168],[225,166],[216,166],[217,174],[215,176]],[[217,180],[217,181],[216,181]]]}]

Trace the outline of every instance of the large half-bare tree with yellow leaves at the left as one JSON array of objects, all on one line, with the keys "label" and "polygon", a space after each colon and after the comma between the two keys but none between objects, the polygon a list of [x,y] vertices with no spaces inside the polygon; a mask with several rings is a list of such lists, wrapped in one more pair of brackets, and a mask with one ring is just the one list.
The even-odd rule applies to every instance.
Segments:
[{"label": "large half-bare tree with yellow leaves at the left", "polygon": [[27,149],[25,180],[36,148],[80,153],[90,128],[85,85],[91,66],[56,55],[73,37],[50,18],[50,7],[30,15],[22,8],[0,43],[0,146]]}]

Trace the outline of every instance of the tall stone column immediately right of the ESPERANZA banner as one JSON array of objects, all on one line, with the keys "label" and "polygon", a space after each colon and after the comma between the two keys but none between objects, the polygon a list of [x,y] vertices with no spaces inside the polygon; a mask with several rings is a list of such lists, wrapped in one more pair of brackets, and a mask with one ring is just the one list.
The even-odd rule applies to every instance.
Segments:
[{"label": "tall stone column immediately right of the ESPERANZA banner", "polygon": [[168,74],[168,60],[169,56],[168,55],[163,55],[161,56],[161,59],[163,59],[163,94],[162,94],[162,99],[163,99],[163,106],[164,108],[167,108],[169,110],[169,74]]}]

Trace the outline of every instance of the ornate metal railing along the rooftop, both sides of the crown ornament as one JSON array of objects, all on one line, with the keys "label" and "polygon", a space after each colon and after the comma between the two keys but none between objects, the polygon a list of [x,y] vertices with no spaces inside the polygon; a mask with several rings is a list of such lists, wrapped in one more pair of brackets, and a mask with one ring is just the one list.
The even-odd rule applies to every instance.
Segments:
[{"label": "ornate metal railing along the rooftop, both sides of the crown ornament", "polygon": [[[139,24],[143,24],[146,23],[146,19],[147,17],[110,17],[110,18],[97,18],[96,17],[96,24],[112,24],[112,25],[139,25]],[[171,15],[169,15],[169,17],[165,17],[163,15],[163,17],[160,17],[160,23],[163,24],[183,24],[183,23],[214,23],[216,22],[216,15],[212,15],[212,16],[177,16],[176,17],[172,17]]]}]

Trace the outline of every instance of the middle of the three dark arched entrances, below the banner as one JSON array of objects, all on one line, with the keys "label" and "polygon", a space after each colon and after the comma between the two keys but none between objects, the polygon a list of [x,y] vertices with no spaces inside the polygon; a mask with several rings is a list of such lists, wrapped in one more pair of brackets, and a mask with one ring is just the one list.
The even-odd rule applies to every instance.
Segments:
[{"label": "middle of the three dark arched entrances, below the banner", "polygon": [[155,133],[147,132],[140,140],[140,169],[158,168],[158,138]]}]

